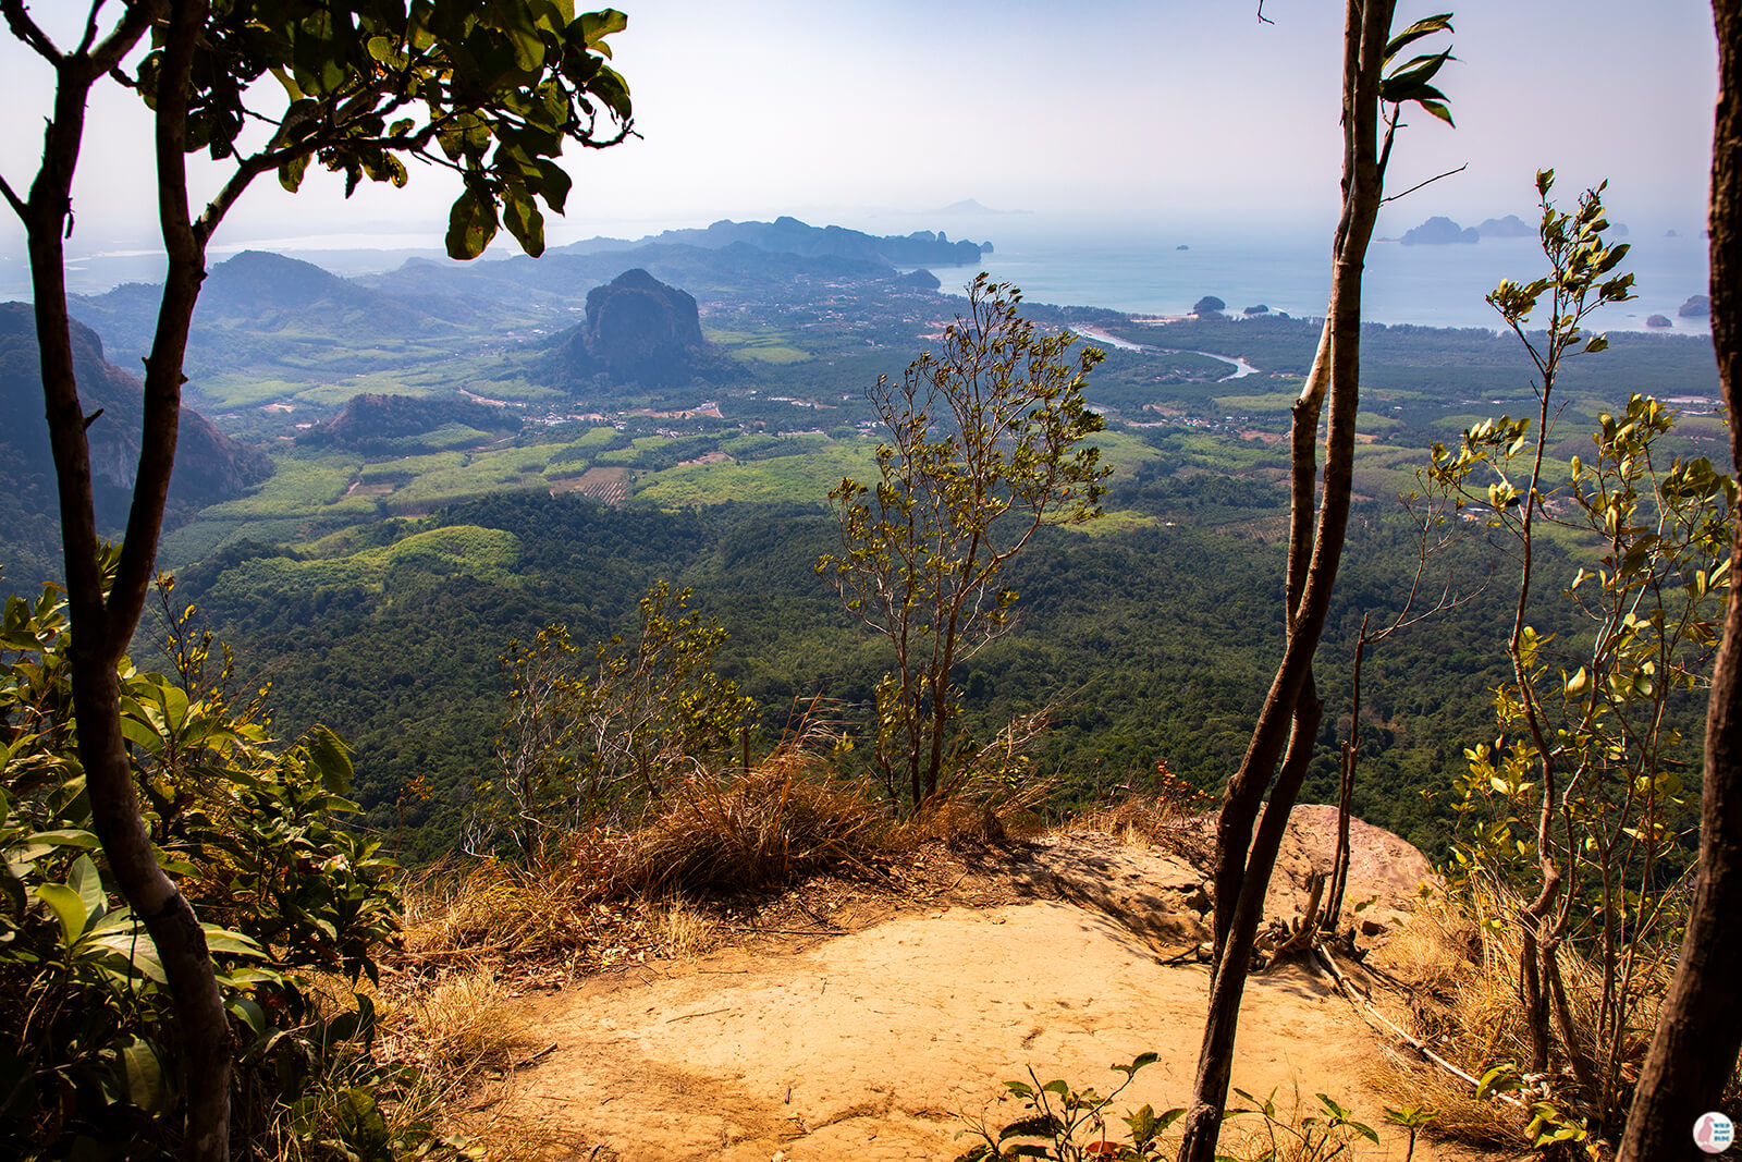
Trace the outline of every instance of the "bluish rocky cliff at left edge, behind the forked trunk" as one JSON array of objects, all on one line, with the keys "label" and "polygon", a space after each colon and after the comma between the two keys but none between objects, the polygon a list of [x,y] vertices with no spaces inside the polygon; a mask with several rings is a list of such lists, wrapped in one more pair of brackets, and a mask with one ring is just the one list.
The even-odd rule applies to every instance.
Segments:
[{"label": "bluish rocky cliff at left edge, behind the forked trunk", "polygon": [[[103,340],[91,328],[73,322],[71,340],[78,399],[85,415],[103,411],[87,429],[98,524],[117,531],[125,521],[132,474],[139,463],[143,385],[103,357]],[[30,303],[0,303],[0,449],[5,460],[0,479],[14,488],[30,481],[42,495],[54,495],[54,460]],[[270,472],[272,462],[265,453],[232,443],[192,408],[181,409],[176,472],[169,484],[172,512],[235,497]]]}]

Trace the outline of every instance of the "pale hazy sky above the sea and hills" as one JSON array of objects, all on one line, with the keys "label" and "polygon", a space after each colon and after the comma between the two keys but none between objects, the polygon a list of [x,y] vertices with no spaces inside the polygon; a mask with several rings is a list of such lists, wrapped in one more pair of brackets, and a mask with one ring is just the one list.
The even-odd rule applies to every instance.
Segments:
[{"label": "pale hazy sky above the sea and hills", "polygon": [[[84,5],[37,0],[42,19]],[[115,7],[115,5],[111,5]],[[1266,0],[625,0],[613,38],[645,139],[575,152],[552,240],[639,235],[716,218],[798,214],[876,230],[977,199],[1082,228],[1320,230],[1334,218],[1341,5]],[[1404,0],[1406,21],[1437,10]],[[1563,190],[1608,176],[1636,230],[1704,225],[1716,45],[1700,0],[1465,0],[1442,73],[1458,129],[1416,115],[1392,190],[1469,164],[1388,207],[1381,233],[1428,214],[1524,213],[1531,174]],[[23,188],[51,75],[10,38],[0,59],[0,172]],[[153,242],[150,129],[124,92],[94,103],[75,192],[75,253]],[[439,240],[446,176],[347,206],[321,174],[289,197],[261,181],[219,244],[333,233]],[[960,226],[939,221],[941,226]],[[498,242],[500,246],[500,242]],[[0,253],[23,251],[7,218]]]}]

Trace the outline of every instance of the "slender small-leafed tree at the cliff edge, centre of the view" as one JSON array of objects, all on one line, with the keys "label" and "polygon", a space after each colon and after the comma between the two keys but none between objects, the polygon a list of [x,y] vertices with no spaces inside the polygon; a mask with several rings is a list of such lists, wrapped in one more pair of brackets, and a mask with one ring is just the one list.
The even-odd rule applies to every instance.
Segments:
[{"label": "slender small-leafed tree at the cliff edge, centre of the view", "polygon": [[869,392],[888,429],[878,479],[829,493],[841,551],[817,571],[895,650],[878,685],[873,761],[890,798],[915,812],[965,744],[953,735],[951,674],[1014,624],[1005,566],[1040,528],[1099,516],[1111,470],[1085,443],[1103,427],[1084,401],[1103,354],[1073,354],[1068,331],[1036,334],[1021,298],[984,274],[974,280],[941,352]]}]

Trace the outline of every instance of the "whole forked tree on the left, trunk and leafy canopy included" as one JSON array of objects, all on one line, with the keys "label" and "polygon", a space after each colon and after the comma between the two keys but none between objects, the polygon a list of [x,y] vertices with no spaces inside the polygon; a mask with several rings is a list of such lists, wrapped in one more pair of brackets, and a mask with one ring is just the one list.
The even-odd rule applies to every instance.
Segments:
[{"label": "whole forked tree on the left, trunk and leafy canopy included", "polygon": [[[608,146],[631,131],[629,91],[606,63],[620,12],[575,17],[563,0],[132,0],[111,24],[92,0],[78,44],[63,49],[24,0],[0,0],[12,35],[56,73],[54,111],[28,193],[0,176],[0,195],[28,240],[42,387],[61,500],[73,624],[71,686],[78,758],[92,829],[120,890],[164,960],[186,1075],[186,1157],[228,1155],[230,1047],[223,1000],[193,909],[152,855],[120,730],[115,665],[155,571],[174,467],[181,362],[206,275],[206,247],[261,174],[296,190],[310,160],[404,185],[404,157],[453,169],[463,190],[449,213],[448,251],[479,254],[500,225],[528,253],[544,249],[540,204],[561,211],[566,141]],[[122,64],[148,45],[132,75]],[[268,99],[277,82],[280,99]],[[167,253],[157,331],[145,371],[145,420],[132,505],[113,582],[106,582],[92,510],[85,429],[101,422],[78,401],[68,333],[64,239],[85,105],[115,80],[155,113],[155,200]],[[256,84],[261,82],[261,84]],[[265,141],[253,145],[256,127]],[[228,178],[195,216],[186,155],[207,152]]]}]

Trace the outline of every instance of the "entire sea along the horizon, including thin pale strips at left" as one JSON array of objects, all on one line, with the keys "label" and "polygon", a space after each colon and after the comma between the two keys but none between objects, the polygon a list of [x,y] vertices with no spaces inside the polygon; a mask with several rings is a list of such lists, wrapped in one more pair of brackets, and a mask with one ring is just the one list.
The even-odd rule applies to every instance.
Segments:
[{"label": "entire sea along the horizon, including thin pale strips at left", "polygon": [[[911,221],[855,221],[874,233],[909,233]],[[932,221],[932,228],[944,225]],[[1108,307],[1141,315],[1183,315],[1205,294],[1239,315],[1249,307],[1320,317],[1331,293],[1329,230],[1252,235],[1223,230],[1096,230],[1049,223],[1028,214],[986,214],[948,221],[949,239],[991,242],[979,267],[1010,282],[1033,303]],[[1381,223],[1383,225],[1383,223]],[[1643,232],[1641,232],[1643,233]],[[639,232],[624,237],[638,237]],[[1690,296],[1707,293],[1707,242],[1695,226],[1685,233],[1627,237],[1632,247],[1624,270],[1634,274],[1632,301],[1610,305],[1590,317],[1596,331],[1646,331],[1662,315],[1678,334],[1707,333],[1705,317],[1683,317]],[[284,237],[214,247],[214,258],[256,246],[314,261],[340,275],[399,267],[409,256],[442,260],[439,239],[418,235]],[[514,254],[498,246],[486,260]],[[0,254],[0,294],[28,296],[23,256]],[[1489,328],[1500,319],[1484,301],[1502,279],[1528,280],[1545,270],[1535,239],[1482,239],[1474,244],[1404,246],[1376,239],[1367,251],[1362,314],[1369,322],[1428,328]],[[934,268],[946,291],[974,277],[965,267]],[[108,249],[85,254],[68,268],[75,293],[103,293],[125,280],[162,279],[162,258],[148,249]],[[1540,324],[1540,321],[1538,321]]]}]

